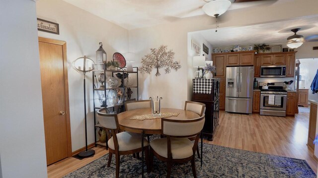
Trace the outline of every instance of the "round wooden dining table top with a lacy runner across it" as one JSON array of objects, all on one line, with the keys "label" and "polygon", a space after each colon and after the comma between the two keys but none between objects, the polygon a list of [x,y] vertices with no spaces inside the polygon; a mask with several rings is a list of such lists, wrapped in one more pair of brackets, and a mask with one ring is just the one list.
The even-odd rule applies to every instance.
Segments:
[{"label": "round wooden dining table top with a lacy runner across it", "polygon": [[[195,119],[200,117],[195,112],[186,111],[183,109],[161,108],[160,112],[161,113],[162,112],[179,113],[178,116],[171,116],[167,118],[167,119],[173,119],[173,120],[188,120],[188,119]],[[133,133],[140,133],[140,134],[143,131],[144,131],[144,134],[161,134],[161,118],[145,119],[145,120],[130,119],[133,116],[145,115],[145,114],[151,114],[151,113],[152,113],[151,108],[134,109],[134,110],[119,113],[117,117],[118,117],[120,130],[129,131]]]}]

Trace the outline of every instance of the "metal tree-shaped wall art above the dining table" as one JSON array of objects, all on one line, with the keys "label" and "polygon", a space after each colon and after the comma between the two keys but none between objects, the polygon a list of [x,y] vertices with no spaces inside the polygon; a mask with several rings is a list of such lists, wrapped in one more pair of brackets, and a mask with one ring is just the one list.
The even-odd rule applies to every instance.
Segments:
[{"label": "metal tree-shaped wall art above the dining table", "polygon": [[158,49],[150,48],[151,53],[145,55],[142,58],[142,67],[140,67],[141,73],[148,73],[152,71],[153,68],[157,69],[156,76],[159,76],[159,69],[165,68],[164,72],[166,74],[171,72],[171,69],[177,71],[181,68],[181,65],[177,61],[173,61],[174,52],[172,49],[167,51],[167,46],[161,45]]}]

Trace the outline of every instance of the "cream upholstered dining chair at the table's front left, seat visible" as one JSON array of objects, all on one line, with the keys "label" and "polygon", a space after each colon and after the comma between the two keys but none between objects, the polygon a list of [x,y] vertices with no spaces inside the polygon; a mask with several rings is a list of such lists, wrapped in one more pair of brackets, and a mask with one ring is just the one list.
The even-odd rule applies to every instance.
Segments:
[{"label": "cream upholstered dining chair at the table's front left, seat visible", "polygon": [[[97,111],[97,119],[99,121],[99,124],[103,128],[105,128],[107,132],[110,131],[112,134],[112,137],[108,140],[109,153],[107,167],[110,166],[112,155],[115,154],[116,178],[118,178],[120,155],[128,155],[141,152],[142,135],[131,132],[117,133],[119,131],[117,114],[106,114],[105,108],[99,109]],[[144,147],[146,154],[146,164],[149,165],[149,142],[147,139],[144,139]],[[147,166],[147,169],[150,171],[149,166]]]}]

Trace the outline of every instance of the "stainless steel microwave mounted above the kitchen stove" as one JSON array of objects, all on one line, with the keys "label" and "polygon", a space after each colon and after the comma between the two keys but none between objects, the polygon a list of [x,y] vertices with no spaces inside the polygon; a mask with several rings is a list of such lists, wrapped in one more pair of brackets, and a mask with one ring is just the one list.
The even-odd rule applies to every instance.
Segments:
[{"label": "stainless steel microwave mounted above the kitchen stove", "polygon": [[260,66],[260,77],[286,77],[286,66]]}]

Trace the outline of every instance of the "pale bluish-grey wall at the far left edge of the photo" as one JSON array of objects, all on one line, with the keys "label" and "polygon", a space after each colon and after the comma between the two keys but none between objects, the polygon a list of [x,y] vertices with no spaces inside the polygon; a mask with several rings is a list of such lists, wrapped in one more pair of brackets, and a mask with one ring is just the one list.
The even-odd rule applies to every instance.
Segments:
[{"label": "pale bluish-grey wall at the far left edge of the photo", "polygon": [[36,6],[0,1],[0,154],[3,178],[47,177]]}]

